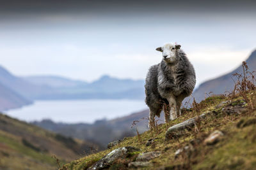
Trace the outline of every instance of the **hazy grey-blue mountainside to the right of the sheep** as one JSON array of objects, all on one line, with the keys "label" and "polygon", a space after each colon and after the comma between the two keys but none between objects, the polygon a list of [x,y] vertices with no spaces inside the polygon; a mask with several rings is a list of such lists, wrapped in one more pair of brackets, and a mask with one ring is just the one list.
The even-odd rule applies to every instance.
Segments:
[{"label": "hazy grey-blue mountainside to the right of the sheep", "polygon": [[[246,59],[246,62],[251,72],[256,71],[256,50],[251,53],[248,59]],[[195,92],[193,92],[193,97],[195,97],[196,101],[199,102],[204,99],[205,92],[213,92],[213,94],[223,94],[226,90],[231,92],[231,90],[234,89],[234,81],[232,80],[234,76],[232,76],[232,74],[242,73],[242,71],[242,66],[239,66],[230,73],[205,81],[195,90]]]}]

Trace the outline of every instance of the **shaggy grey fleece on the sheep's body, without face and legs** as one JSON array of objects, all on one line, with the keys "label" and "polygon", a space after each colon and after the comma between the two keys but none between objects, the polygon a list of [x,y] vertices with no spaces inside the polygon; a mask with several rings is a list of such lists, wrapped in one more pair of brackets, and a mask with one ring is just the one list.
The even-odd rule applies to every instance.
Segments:
[{"label": "shaggy grey fleece on the sheep's body, without face and legs", "polygon": [[179,50],[175,64],[168,64],[162,60],[148,70],[145,83],[145,102],[151,111],[159,117],[164,104],[170,96],[183,100],[195,88],[195,69],[186,57],[186,53]]}]

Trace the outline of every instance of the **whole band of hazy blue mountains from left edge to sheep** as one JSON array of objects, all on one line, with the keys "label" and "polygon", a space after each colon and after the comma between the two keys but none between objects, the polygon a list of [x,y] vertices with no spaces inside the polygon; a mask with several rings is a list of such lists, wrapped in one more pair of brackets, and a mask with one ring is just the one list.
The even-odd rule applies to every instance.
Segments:
[{"label": "whole band of hazy blue mountains from left edge to sheep", "polygon": [[18,108],[38,99],[142,99],[145,96],[143,80],[106,75],[87,83],[62,76],[19,77],[0,66],[0,83],[0,110]]}]

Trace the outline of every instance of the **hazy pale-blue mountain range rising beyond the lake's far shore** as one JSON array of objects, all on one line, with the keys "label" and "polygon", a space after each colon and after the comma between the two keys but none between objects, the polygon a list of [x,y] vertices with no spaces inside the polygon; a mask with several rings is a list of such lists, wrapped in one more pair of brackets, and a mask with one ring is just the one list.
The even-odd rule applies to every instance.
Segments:
[{"label": "hazy pale-blue mountain range rising beyond the lake's far shore", "polygon": [[24,80],[51,88],[35,99],[143,99],[144,81],[118,79],[104,75],[92,83],[71,80],[60,76],[29,76]]}]

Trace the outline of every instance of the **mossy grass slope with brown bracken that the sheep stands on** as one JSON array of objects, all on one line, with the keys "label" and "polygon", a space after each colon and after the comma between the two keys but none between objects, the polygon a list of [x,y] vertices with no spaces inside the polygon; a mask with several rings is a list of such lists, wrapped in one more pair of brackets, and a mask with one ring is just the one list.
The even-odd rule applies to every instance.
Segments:
[{"label": "mossy grass slope with brown bracken that the sheep stands on", "polygon": [[[248,96],[246,100],[236,97],[232,101],[223,96],[209,97],[200,104],[194,104],[191,111],[184,111],[183,117],[168,124],[161,124],[140,136],[124,138],[111,149],[74,160],[61,169],[88,169],[93,165],[99,167],[104,161],[106,163],[106,157],[103,163],[98,162],[102,157],[109,153],[107,157],[113,158],[115,149],[124,146],[133,146],[140,151],[111,160],[111,164],[105,165],[108,169],[129,169],[136,166],[141,169],[255,169],[256,92]],[[198,118],[202,113],[207,116]],[[193,117],[196,120],[194,126],[166,137],[169,127]],[[207,144],[205,139],[215,130],[223,133],[223,136]],[[148,144],[150,139],[152,142]],[[179,149],[182,149],[182,152],[178,153]],[[138,155],[141,157],[144,152],[160,155],[147,162],[138,162]],[[96,162],[98,163],[95,164]]]}]

